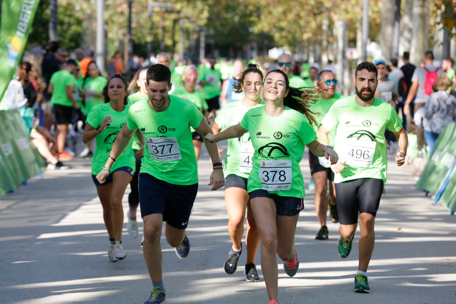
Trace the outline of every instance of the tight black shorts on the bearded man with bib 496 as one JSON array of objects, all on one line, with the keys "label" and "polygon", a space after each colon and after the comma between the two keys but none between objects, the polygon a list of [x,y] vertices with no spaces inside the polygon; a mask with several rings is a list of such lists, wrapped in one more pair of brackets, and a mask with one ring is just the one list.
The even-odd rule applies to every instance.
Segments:
[{"label": "tight black shorts on the bearded man with bib 496", "polygon": [[377,215],[383,192],[383,180],[361,178],[336,184],[337,212],[342,225],[358,223],[358,215]]}]

